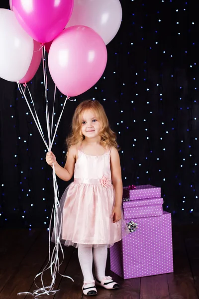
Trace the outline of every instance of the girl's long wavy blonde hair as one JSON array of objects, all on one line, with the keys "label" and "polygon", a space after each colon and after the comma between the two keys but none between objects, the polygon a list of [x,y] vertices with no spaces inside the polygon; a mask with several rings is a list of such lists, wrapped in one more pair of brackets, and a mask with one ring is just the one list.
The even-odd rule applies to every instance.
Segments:
[{"label": "girl's long wavy blonde hair", "polygon": [[116,142],[116,134],[110,129],[108,124],[108,119],[103,109],[103,106],[96,100],[86,100],[83,101],[75,110],[73,120],[72,120],[72,130],[71,134],[66,139],[67,148],[69,149],[73,145],[80,146],[85,136],[82,134],[82,119],[83,113],[86,110],[93,110],[96,116],[99,118],[101,124],[100,130],[100,145],[105,148],[114,147],[118,149]]}]

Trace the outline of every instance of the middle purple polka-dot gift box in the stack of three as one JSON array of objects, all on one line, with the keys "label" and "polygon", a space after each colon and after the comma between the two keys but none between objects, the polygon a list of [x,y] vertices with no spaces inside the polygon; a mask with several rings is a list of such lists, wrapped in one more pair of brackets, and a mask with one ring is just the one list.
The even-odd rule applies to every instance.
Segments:
[{"label": "middle purple polka-dot gift box in the stack of three", "polygon": [[122,203],[124,219],[161,216],[163,198],[149,198]]}]

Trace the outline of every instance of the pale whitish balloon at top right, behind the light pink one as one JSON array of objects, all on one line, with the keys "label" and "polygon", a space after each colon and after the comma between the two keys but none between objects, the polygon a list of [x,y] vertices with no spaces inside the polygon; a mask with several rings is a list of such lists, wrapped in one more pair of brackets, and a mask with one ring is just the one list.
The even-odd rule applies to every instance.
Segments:
[{"label": "pale whitish balloon at top right, behind the light pink one", "polygon": [[91,27],[107,45],[117,34],[121,19],[119,0],[74,0],[73,13],[66,28],[74,25]]}]

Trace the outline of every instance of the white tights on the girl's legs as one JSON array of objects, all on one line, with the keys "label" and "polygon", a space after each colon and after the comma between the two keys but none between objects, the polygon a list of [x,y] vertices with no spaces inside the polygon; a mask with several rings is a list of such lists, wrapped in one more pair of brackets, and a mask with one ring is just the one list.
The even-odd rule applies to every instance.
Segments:
[{"label": "white tights on the girl's legs", "polygon": [[80,266],[84,276],[84,281],[92,281],[93,277],[93,260],[95,265],[96,278],[101,281],[105,276],[105,267],[107,260],[107,245],[99,245],[94,249],[92,247],[85,247],[85,245],[79,245],[78,258]]}]

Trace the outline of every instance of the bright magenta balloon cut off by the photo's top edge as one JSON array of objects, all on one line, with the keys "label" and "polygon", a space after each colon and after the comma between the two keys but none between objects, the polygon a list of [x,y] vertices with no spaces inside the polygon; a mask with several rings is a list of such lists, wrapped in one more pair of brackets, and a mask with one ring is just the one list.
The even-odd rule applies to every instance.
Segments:
[{"label": "bright magenta balloon cut off by the photo's top edge", "polygon": [[12,0],[19,24],[41,43],[53,40],[68,23],[73,0]]}]

